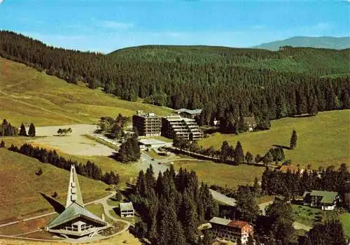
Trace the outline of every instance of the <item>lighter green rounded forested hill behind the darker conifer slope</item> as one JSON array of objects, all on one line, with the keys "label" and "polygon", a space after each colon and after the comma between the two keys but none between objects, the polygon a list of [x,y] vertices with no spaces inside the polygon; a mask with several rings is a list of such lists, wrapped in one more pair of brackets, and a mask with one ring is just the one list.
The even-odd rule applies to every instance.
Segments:
[{"label": "lighter green rounded forested hill behind the darker conifer slope", "polygon": [[269,69],[297,73],[332,74],[349,71],[350,50],[286,48],[269,50],[214,47],[145,45],[127,47],[109,54],[115,61],[169,62],[175,64],[216,64],[216,66]]}]

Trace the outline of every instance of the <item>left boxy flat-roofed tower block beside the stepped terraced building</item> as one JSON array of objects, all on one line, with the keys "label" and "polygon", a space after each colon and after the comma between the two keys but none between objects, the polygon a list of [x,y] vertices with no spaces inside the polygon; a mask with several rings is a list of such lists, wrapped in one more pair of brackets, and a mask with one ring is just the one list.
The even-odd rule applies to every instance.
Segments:
[{"label": "left boxy flat-roofed tower block beside the stepped terraced building", "polygon": [[154,113],[138,110],[132,116],[132,128],[137,130],[140,136],[160,136],[162,119]]}]

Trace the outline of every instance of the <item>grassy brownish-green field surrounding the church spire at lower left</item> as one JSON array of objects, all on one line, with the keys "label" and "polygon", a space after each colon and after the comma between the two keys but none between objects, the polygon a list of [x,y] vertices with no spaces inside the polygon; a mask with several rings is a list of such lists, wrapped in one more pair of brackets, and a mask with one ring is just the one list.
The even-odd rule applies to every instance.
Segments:
[{"label": "grassy brownish-green field surrounding the church spire at lower left", "polygon": [[[41,168],[43,174],[36,172]],[[26,218],[54,211],[48,200],[56,191],[57,202],[64,204],[69,172],[43,164],[7,149],[0,149],[0,221]],[[102,198],[108,187],[101,181],[79,176],[84,202]]]}]

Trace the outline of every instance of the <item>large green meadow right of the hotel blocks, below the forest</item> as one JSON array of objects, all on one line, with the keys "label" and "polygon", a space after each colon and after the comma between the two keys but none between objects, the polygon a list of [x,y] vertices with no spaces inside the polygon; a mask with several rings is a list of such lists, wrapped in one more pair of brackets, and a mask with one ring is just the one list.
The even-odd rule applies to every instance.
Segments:
[{"label": "large green meadow right of the hotel blocks, below the forest", "polygon": [[284,118],[272,121],[269,131],[241,135],[214,133],[200,141],[204,147],[220,149],[224,140],[236,145],[239,140],[244,151],[263,155],[273,144],[289,146],[290,135],[297,131],[297,147],[285,150],[286,159],[311,168],[350,164],[350,110],[320,112],[316,117]]}]

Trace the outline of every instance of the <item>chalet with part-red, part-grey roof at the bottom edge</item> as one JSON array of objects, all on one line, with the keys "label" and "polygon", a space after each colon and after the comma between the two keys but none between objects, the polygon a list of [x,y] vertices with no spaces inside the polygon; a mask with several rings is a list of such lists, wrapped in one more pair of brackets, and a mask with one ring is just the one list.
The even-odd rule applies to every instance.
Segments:
[{"label": "chalet with part-red, part-grey roof at the bottom edge", "polygon": [[241,244],[248,242],[249,235],[253,235],[253,226],[246,221],[232,221],[226,218],[211,218],[211,232],[214,237],[229,240],[232,242],[241,241]]}]

